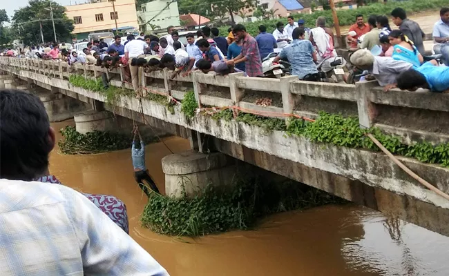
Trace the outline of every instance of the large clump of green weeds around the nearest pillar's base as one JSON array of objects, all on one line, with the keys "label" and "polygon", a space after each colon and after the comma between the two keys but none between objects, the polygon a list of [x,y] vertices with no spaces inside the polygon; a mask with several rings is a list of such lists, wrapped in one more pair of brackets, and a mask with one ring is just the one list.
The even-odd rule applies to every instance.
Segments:
[{"label": "large clump of green weeds around the nearest pillar's base", "polygon": [[194,198],[164,197],[152,193],[141,221],[156,233],[195,237],[227,230],[246,230],[260,217],[286,210],[305,209],[345,202],[315,188],[287,181],[238,180],[227,192],[207,186]]}]

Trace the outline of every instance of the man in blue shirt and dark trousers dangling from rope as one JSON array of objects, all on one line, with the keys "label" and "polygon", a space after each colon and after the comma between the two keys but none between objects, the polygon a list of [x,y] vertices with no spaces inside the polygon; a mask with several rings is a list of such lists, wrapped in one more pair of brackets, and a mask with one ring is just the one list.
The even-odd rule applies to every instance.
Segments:
[{"label": "man in blue shirt and dark trousers dangling from rope", "polygon": [[[147,196],[150,195],[150,191],[144,185],[143,180],[146,180],[148,182],[153,192],[159,193],[156,184],[154,183],[153,179],[151,179],[151,176],[149,175],[149,172],[145,167],[145,143],[144,140],[142,139],[142,135],[140,135],[139,128],[137,128],[137,126],[134,126],[133,133],[134,137],[133,137],[133,146],[131,147],[131,157],[133,158],[135,181],[137,181],[137,184],[139,184],[140,188],[142,188],[142,190]],[[139,135],[140,148],[136,148],[135,145],[136,135]]]}]

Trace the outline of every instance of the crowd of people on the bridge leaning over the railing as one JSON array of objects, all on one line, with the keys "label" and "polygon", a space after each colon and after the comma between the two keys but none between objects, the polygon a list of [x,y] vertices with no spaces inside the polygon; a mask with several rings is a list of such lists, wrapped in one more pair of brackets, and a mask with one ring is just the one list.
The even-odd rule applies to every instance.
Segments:
[{"label": "crowd of people on the bridge leaning over the railing", "polygon": [[[350,51],[354,52],[350,56],[350,63],[360,70],[366,70],[386,90],[424,86],[439,92],[448,90],[449,87],[440,85],[440,82],[449,83],[449,8],[442,8],[440,16],[441,19],[434,25],[433,37],[441,45],[441,61],[446,67],[425,59],[425,34],[417,22],[407,18],[402,8],[395,8],[391,12],[392,22],[399,27],[398,30],[390,28],[385,15],[373,14],[366,22],[362,15],[356,16],[356,22],[347,35]],[[121,37],[116,36],[115,42],[107,48],[103,41],[93,41],[88,43],[82,54],[70,52],[64,43],[60,46],[53,43],[41,47],[31,46],[24,55],[61,59],[70,64],[96,64],[106,68],[120,66],[136,91],[140,83],[137,73],[139,67],[144,67],[147,72],[169,68],[174,70],[172,77],[178,74],[186,76],[193,70],[213,71],[218,75],[243,72],[249,77],[262,77],[265,75],[262,61],[272,52],[278,53],[275,62],[283,59],[290,63],[292,75],[297,75],[298,79],[314,81],[318,70],[332,70],[329,64],[338,55],[334,48],[334,32],[326,27],[325,17],[318,17],[314,28],[307,28],[303,19],[295,21],[293,16],[289,16],[287,21],[287,25],[278,22],[272,34],[267,32],[266,26],[260,25],[256,37],[252,37],[241,24],[229,28],[227,37],[220,36],[218,28],[206,26],[187,34],[187,45],[184,45],[179,40],[178,31],[169,26],[168,34],[160,38],[142,33],[136,39],[130,34],[127,41],[122,43]],[[13,54],[7,52],[7,55]],[[434,70],[423,69],[429,66],[434,66]],[[439,75],[435,76],[437,72]],[[420,74],[421,78],[417,79],[426,79],[426,83],[412,83],[413,87],[407,84],[410,81],[403,83],[402,80],[411,74]],[[104,86],[108,86],[105,78]]]}]

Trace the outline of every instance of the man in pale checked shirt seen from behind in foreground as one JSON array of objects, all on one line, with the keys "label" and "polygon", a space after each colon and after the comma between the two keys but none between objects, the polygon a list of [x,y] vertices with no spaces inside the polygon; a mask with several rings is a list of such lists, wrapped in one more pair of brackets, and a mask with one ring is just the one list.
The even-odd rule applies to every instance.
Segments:
[{"label": "man in pale checked shirt seen from behind in foreground", "polygon": [[0,117],[0,275],[168,275],[86,195],[32,181],[56,141],[38,97],[1,91]]}]

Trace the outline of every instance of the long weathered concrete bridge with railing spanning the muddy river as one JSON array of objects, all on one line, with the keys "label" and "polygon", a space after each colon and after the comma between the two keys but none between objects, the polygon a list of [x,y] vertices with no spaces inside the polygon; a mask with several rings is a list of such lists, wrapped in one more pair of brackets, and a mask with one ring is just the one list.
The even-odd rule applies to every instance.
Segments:
[{"label": "long weathered concrete bridge with railing spanning the muddy river", "polygon": [[[357,204],[380,210],[442,235],[449,235],[449,201],[423,187],[381,152],[316,144],[304,137],[288,136],[282,131],[266,130],[236,120],[212,119],[209,115],[187,118],[180,106],[170,112],[166,105],[144,98],[142,101],[126,95],[113,103],[101,92],[73,86],[70,75],[86,79],[106,73],[112,86],[131,89],[124,83],[120,70],[38,59],[0,58],[0,88],[38,86],[48,91],[49,101],[67,101],[135,119],[144,124],[186,137],[193,150],[218,150],[227,156],[245,161],[343,197]],[[169,71],[140,72],[142,86],[152,93],[182,100],[193,90],[198,106],[234,106],[245,112],[317,117],[320,110],[359,117],[361,126],[377,126],[385,133],[397,135],[404,144],[429,141],[432,144],[449,141],[449,95],[430,92],[392,90],[385,93],[375,82],[354,85],[297,81],[296,77],[261,79],[231,74],[226,77],[195,73],[188,77],[169,79]],[[23,86],[26,85],[26,86]],[[256,99],[267,97],[271,106],[259,106]],[[53,99],[54,98],[54,99]],[[72,101],[77,101],[75,104]],[[68,106],[67,106],[68,105]],[[52,106],[47,103],[46,106]],[[56,108],[57,110],[57,108]],[[53,109],[47,110],[57,115]],[[77,110],[73,110],[77,112]],[[271,112],[271,113],[270,113]],[[448,152],[449,154],[449,152]],[[206,165],[198,154],[180,157],[184,168],[179,175],[215,170],[230,164],[227,157],[212,153]],[[398,157],[408,168],[444,193],[449,193],[449,169],[423,164],[416,159]],[[173,160],[163,160],[166,175],[176,175]],[[194,164],[187,168],[187,164]],[[167,189],[168,193],[175,193]]]}]

